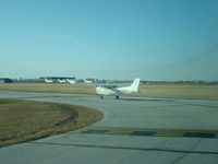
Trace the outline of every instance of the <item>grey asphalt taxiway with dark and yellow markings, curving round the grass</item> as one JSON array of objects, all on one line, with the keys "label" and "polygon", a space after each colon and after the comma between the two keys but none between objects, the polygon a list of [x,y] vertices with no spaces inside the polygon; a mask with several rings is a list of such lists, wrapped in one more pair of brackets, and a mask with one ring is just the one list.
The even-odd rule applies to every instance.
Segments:
[{"label": "grey asphalt taxiway with dark and yellow markings, curving round the grass", "polygon": [[218,102],[0,91],[3,97],[84,105],[105,117],[77,131],[1,148],[1,164],[218,163]]}]

